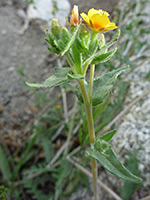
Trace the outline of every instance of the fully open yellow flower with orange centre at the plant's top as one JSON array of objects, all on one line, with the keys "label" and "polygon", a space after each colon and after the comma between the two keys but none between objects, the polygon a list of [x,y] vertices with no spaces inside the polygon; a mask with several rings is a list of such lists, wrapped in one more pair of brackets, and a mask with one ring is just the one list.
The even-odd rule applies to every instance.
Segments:
[{"label": "fully open yellow flower with orange centre at the plant's top", "polygon": [[88,15],[81,13],[81,17],[87,25],[96,32],[105,32],[117,28],[115,23],[110,22],[108,16],[108,12],[94,8],[89,10]]}]

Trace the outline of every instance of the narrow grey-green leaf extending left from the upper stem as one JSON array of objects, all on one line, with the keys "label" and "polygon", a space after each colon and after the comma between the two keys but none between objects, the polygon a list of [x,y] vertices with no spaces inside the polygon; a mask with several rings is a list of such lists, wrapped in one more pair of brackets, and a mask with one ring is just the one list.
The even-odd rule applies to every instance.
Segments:
[{"label": "narrow grey-green leaf extending left from the upper stem", "polygon": [[36,84],[36,83],[27,83],[26,84],[30,87],[34,88],[52,88],[58,86],[62,83],[67,82],[68,73],[71,72],[69,67],[66,68],[55,68],[55,74],[50,76],[43,84]]}]

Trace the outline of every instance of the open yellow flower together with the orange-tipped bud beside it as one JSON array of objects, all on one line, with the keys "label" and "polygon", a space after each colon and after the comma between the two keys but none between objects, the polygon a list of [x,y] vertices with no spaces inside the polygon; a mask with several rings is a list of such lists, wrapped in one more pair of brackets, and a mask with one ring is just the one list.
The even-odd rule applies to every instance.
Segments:
[{"label": "open yellow flower together with the orange-tipped bud beside it", "polygon": [[[110,22],[108,16],[108,12],[94,8],[91,8],[88,14],[81,13],[81,17],[94,32],[105,32],[118,28],[114,22]],[[78,6],[75,5],[72,9],[70,25],[76,26],[79,23]]]}]

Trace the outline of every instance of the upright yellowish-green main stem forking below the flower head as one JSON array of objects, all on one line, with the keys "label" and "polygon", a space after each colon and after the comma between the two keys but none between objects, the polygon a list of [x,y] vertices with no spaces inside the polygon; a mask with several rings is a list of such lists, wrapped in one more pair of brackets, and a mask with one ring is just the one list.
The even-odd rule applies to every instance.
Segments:
[{"label": "upright yellowish-green main stem forking below the flower head", "polygon": [[[91,74],[90,74],[88,94],[86,92],[84,80],[78,80],[80,89],[81,89],[81,93],[83,96],[84,104],[85,104],[85,111],[86,111],[86,115],[87,115],[88,130],[89,130],[91,144],[93,144],[95,141],[95,130],[94,130],[93,113],[92,113],[92,101],[91,101],[94,69],[95,69],[95,66],[91,65]],[[98,199],[98,196],[97,196],[97,162],[93,158],[91,159],[91,162],[92,162],[94,200],[97,200]]]}]

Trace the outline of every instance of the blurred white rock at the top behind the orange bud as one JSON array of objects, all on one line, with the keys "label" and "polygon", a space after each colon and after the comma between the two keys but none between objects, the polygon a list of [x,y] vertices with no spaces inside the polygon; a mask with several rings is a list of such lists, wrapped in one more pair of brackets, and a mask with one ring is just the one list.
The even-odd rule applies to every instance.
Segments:
[{"label": "blurred white rock at the top behind the orange bud", "polygon": [[29,20],[42,19],[50,25],[52,19],[56,18],[62,26],[66,25],[65,17],[68,17],[71,10],[68,0],[55,0],[56,10],[53,10],[55,8],[52,0],[34,0],[34,2],[35,6],[31,4],[27,10]]}]

